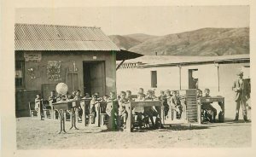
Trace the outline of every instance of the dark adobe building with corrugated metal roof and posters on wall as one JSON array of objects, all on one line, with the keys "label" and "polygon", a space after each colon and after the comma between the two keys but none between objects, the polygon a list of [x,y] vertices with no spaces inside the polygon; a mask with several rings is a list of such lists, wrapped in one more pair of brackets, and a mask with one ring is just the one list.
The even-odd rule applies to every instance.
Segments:
[{"label": "dark adobe building with corrugated metal roof and posters on wall", "polygon": [[116,90],[116,60],[137,56],[99,27],[15,24],[16,116],[29,116],[28,102],[37,93],[48,99],[61,82],[69,93],[106,95]]}]

